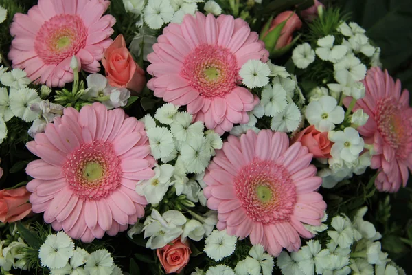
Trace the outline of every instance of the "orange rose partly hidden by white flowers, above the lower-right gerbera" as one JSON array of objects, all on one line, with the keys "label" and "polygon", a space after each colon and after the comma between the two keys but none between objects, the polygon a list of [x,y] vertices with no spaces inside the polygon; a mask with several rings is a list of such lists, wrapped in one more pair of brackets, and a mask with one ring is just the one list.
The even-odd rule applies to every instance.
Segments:
[{"label": "orange rose partly hidden by white flowers, above the lower-right gerbera", "polygon": [[313,125],[297,133],[292,139],[292,143],[295,142],[301,142],[302,145],[308,147],[309,153],[312,153],[313,157],[332,157],[330,155],[330,148],[333,142],[328,140],[328,133],[317,131]]}]

